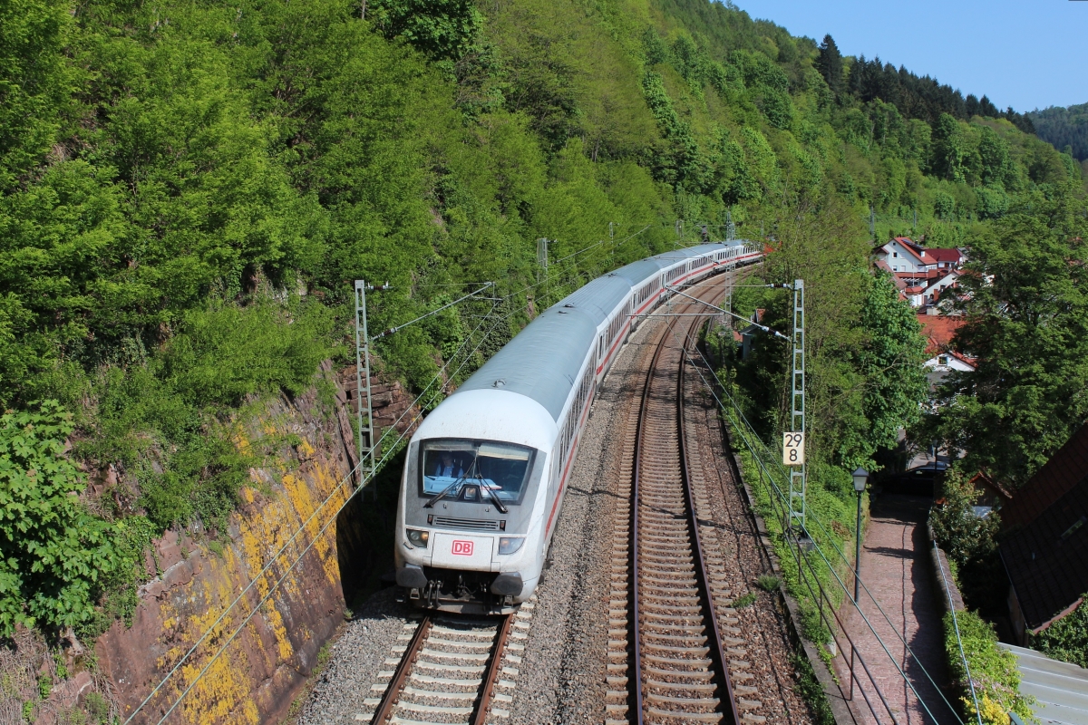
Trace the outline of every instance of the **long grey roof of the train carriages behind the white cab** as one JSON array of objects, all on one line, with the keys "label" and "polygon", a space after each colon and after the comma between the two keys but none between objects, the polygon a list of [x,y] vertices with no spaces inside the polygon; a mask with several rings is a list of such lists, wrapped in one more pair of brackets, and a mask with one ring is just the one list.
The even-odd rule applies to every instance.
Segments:
[{"label": "long grey roof of the train carriages behind the white cab", "polygon": [[632,288],[659,271],[721,248],[721,243],[714,243],[676,249],[632,262],[588,283],[529,323],[472,374],[450,400],[469,390],[502,388],[535,400],[558,422],[597,327],[608,313]]}]

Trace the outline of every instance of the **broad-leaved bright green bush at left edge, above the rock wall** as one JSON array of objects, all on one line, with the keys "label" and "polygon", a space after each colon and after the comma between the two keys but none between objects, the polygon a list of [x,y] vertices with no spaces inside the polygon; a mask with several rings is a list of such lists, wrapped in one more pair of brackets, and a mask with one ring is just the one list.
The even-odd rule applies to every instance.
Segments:
[{"label": "broad-leaved bright green bush at left edge, above the rock wall", "polygon": [[102,578],[123,559],[123,527],[91,515],[64,455],[74,425],[55,401],[0,416],[0,634],[71,627],[94,616]]}]

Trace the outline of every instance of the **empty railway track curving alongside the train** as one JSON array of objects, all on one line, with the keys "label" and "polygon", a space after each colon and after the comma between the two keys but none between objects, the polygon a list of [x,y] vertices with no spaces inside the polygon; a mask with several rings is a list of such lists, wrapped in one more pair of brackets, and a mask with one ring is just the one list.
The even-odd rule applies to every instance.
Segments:
[{"label": "empty railway track curving alongside the train", "polygon": [[[696,311],[695,303],[678,311]],[[702,475],[689,452],[684,348],[698,326],[672,318],[647,372],[629,442],[627,511],[613,541],[607,723],[766,721],[747,683],[747,641]]]}]

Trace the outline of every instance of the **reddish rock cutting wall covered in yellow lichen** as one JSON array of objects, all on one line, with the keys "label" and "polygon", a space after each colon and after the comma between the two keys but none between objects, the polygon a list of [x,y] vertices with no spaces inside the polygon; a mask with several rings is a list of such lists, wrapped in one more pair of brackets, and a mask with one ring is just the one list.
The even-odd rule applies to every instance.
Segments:
[{"label": "reddish rock cutting wall covered in yellow lichen", "polygon": [[[334,378],[327,367],[324,372]],[[168,532],[156,542],[153,559],[161,575],[140,588],[132,626],[116,622],[96,643],[99,665],[113,683],[123,718],[255,578],[242,601],[135,722],[157,722],[194,682],[170,722],[263,723],[286,714],[319,649],[344,618],[334,514],[354,489],[350,472],[356,453],[348,404],[339,385],[334,410],[329,410],[327,400],[320,402],[316,390],[295,400],[272,401],[250,425],[249,440],[283,436],[294,445],[285,443],[274,463],[250,470],[250,485],[242,491],[243,503],[231,516],[227,536],[199,543],[193,532]],[[305,532],[290,540],[319,509]],[[341,538],[362,547],[353,543],[349,534],[341,533]],[[283,584],[247,622],[281,577]],[[223,654],[212,660],[224,645]],[[197,679],[206,666],[207,673]]]}]

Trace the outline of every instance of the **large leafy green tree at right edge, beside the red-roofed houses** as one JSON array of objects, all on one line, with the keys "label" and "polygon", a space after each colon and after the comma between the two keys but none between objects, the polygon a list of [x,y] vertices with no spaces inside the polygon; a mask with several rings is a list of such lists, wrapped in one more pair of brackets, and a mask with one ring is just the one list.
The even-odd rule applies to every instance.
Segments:
[{"label": "large leafy green tree at right edge, beside the red-roofed houses", "polygon": [[965,471],[1023,485],[1088,420],[1086,214],[1065,188],[1037,190],[972,241],[957,340],[977,368],[950,376],[927,425]]}]

